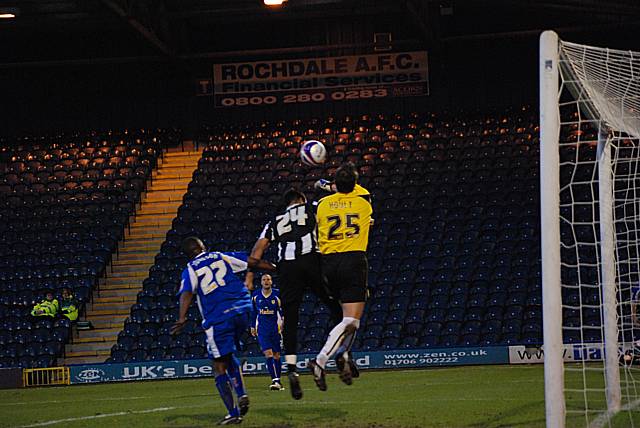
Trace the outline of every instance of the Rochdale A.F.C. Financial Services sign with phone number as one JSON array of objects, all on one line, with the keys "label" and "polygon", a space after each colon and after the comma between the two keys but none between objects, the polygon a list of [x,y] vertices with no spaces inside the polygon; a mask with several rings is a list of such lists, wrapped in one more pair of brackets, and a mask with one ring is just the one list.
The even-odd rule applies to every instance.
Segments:
[{"label": "Rochdale A.F.C. Financial Services sign with phone number", "polygon": [[216,107],[429,94],[426,51],[216,64]]}]

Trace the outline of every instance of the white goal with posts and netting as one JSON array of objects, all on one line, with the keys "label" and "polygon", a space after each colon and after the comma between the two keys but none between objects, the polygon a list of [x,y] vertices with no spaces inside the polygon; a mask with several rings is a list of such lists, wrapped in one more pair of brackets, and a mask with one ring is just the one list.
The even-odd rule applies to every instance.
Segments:
[{"label": "white goal with posts and netting", "polygon": [[640,426],[640,53],[543,33],[540,134],[547,426]]}]

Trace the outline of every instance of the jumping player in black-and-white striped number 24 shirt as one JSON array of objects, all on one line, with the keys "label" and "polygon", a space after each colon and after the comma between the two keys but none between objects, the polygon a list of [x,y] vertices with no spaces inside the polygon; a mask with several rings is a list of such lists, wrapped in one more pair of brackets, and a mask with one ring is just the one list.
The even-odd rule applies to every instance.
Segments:
[{"label": "jumping player in black-and-white striped number 24 shirt", "polygon": [[[274,242],[278,244],[278,275],[280,299],[284,314],[283,338],[286,353],[287,377],[294,399],[302,398],[302,388],[297,373],[298,310],[307,288],[329,307],[332,322],[342,319],[342,309],[337,300],[329,296],[320,270],[320,254],[316,239],[314,208],[307,203],[302,192],[290,189],[284,194],[286,209],[268,222],[253,250],[251,257],[260,259]],[[248,273],[245,284],[253,284]]]}]

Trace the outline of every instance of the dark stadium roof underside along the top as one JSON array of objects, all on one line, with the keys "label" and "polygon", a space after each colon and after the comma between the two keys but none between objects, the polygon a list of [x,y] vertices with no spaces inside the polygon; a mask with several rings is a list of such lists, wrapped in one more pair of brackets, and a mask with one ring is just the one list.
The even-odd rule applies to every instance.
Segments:
[{"label": "dark stadium roof underside along the top", "polygon": [[[474,38],[640,27],[636,0],[15,0],[2,10],[1,67],[216,58],[224,52],[355,46],[313,31],[367,22],[394,40],[432,46]],[[388,25],[385,25],[388,24]],[[393,27],[392,23],[396,23]],[[400,24],[400,25],[398,25]],[[400,28],[398,28],[400,27]],[[370,43],[369,40],[366,41]]]}]

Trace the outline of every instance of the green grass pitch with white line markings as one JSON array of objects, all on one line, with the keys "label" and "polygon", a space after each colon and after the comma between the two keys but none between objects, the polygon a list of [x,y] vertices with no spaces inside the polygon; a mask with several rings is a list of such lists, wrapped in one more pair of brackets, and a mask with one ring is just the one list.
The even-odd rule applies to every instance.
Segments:
[{"label": "green grass pitch with white line markings", "polygon": [[[245,380],[245,427],[544,426],[541,365],[370,371],[352,386],[330,374],[324,393],[303,375],[300,401],[264,376]],[[3,427],[209,427],[225,413],[212,378],[0,391]]]}]

